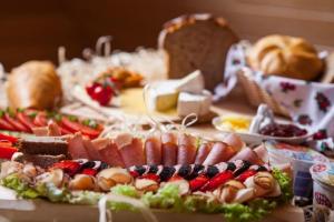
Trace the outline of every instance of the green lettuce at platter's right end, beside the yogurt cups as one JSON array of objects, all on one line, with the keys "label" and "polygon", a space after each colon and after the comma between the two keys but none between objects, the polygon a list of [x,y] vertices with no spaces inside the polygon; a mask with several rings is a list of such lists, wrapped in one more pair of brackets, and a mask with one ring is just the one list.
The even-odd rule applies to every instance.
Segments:
[{"label": "green lettuce at platter's right end, beside the yogurt cups", "polygon": [[276,179],[281,186],[282,195],[279,196],[281,202],[287,202],[293,198],[292,179],[287,173],[274,168],[273,176]]}]

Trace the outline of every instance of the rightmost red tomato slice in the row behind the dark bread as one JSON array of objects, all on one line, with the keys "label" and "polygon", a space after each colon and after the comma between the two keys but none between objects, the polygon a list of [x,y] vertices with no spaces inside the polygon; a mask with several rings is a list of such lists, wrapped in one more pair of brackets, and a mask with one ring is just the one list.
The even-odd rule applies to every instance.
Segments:
[{"label": "rightmost red tomato slice in the row behind the dark bread", "polygon": [[89,138],[97,138],[101,132],[101,127],[98,125],[97,129],[84,125],[80,122],[70,121],[67,117],[61,118],[62,125],[71,132],[81,132]]}]

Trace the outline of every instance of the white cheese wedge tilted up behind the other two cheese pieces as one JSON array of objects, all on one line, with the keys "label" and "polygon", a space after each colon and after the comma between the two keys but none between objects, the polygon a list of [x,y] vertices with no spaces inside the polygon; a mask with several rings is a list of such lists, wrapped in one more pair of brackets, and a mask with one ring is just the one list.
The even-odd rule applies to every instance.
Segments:
[{"label": "white cheese wedge tilted up behind the other two cheese pieces", "polygon": [[204,90],[204,77],[199,70],[196,70],[187,77],[178,80],[177,90],[180,92],[202,93]]}]

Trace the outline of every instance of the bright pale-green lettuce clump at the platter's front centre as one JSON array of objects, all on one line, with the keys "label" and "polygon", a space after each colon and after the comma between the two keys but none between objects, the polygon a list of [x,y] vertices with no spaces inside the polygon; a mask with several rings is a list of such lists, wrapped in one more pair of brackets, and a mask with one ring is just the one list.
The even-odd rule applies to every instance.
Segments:
[{"label": "bright pale-green lettuce clump at the platter's front centre", "polygon": [[150,208],[183,210],[183,199],[176,184],[167,184],[160,188],[157,193],[147,192],[141,196],[141,200]]}]

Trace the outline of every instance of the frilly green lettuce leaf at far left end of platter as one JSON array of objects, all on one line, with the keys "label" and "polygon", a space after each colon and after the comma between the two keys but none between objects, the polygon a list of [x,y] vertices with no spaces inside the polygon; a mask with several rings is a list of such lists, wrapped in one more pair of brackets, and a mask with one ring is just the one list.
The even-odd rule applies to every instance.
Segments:
[{"label": "frilly green lettuce leaf at far left end of platter", "polygon": [[18,196],[24,199],[36,199],[39,193],[29,186],[17,173],[10,174],[1,180],[1,185],[10,188],[18,193]]}]

